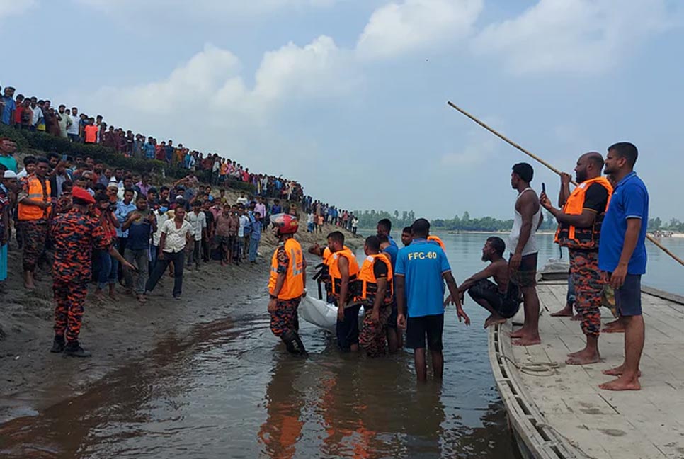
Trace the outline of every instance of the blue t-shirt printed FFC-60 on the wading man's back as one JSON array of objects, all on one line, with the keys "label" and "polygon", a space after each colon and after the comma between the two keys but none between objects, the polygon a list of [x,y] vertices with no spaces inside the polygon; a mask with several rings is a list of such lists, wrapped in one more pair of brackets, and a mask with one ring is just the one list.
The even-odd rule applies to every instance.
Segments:
[{"label": "blue t-shirt printed FFC-60 on the wading man's back", "polygon": [[426,239],[414,239],[399,250],[394,273],[404,276],[410,317],[444,314],[442,275],[448,271],[451,266],[442,248]]}]

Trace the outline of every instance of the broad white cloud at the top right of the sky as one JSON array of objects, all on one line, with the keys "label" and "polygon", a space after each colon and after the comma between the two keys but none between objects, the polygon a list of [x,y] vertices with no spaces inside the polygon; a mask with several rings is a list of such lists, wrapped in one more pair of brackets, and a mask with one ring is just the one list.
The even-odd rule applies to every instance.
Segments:
[{"label": "broad white cloud at the top right of the sky", "polygon": [[487,26],[474,51],[516,74],[604,72],[668,26],[666,9],[666,0],[540,0]]}]

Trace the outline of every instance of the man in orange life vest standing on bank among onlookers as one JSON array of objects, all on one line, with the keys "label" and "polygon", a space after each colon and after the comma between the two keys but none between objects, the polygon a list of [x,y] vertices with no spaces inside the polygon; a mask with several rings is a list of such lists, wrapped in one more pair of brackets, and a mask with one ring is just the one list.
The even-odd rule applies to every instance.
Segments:
[{"label": "man in orange life vest standing on bank among onlookers", "polygon": [[47,230],[52,212],[47,158],[36,159],[35,170],[23,182],[18,201],[18,222],[22,234],[24,287],[35,288],[35,265],[45,251]]}]

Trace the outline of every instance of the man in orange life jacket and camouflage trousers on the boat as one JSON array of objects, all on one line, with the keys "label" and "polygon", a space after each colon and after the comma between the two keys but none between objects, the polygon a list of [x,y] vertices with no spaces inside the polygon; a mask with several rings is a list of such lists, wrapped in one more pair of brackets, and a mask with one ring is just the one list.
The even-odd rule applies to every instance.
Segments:
[{"label": "man in orange life jacket and camouflage trousers on the boat", "polygon": [[[586,346],[568,354],[568,365],[586,365],[600,359],[598,336],[601,328],[601,281],[598,269],[598,246],[601,224],[610,202],[612,185],[601,176],[603,157],[597,152],[583,154],[575,166],[578,186],[562,203],[562,210],[554,208],[542,192],[541,205],[556,217],[558,229],[555,242],[567,247],[570,254],[570,275],[576,296],[576,309],[582,316],[582,331]],[[569,183],[569,175],[561,176],[561,187]],[[569,188],[566,188],[569,191]]]}]

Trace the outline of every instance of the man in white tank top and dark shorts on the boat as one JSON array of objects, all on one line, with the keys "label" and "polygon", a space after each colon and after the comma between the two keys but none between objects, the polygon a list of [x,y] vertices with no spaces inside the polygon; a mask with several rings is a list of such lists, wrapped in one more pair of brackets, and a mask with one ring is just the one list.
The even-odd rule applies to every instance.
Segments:
[{"label": "man in white tank top and dark shorts on the boat", "polygon": [[528,163],[513,166],[511,186],[518,190],[515,200],[513,229],[508,236],[508,259],[511,282],[523,293],[525,323],[523,328],[511,333],[516,346],[541,344],[539,336],[539,297],[537,296],[537,237],[535,233],[542,224],[542,206],[537,193],[530,187],[535,170]]}]

